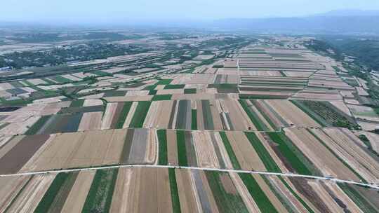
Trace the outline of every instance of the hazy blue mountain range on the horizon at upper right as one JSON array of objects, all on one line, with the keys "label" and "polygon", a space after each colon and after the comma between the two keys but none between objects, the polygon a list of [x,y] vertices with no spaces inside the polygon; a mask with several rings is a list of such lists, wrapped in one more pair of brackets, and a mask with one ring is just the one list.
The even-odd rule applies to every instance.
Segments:
[{"label": "hazy blue mountain range on the horizon at upper right", "polygon": [[379,34],[379,11],[330,11],[293,18],[233,18],[217,20],[213,27],[292,34]]}]

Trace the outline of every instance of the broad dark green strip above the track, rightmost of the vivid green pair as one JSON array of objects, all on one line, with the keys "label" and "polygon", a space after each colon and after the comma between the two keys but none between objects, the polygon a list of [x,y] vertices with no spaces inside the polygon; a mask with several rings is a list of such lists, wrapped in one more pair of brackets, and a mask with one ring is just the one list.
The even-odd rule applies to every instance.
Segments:
[{"label": "broad dark green strip above the track, rightmost of the vivid green pair", "polygon": [[[299,174],[307,174],[312,175],[312,172],[308,169],[308,167],[296,156],[295,154],[295,146],[288,146],[288,143],[291,143],[289,139],[286,138],[283,132],[267,132],[267,135],[270,136],[272,141],[276,144],[279,144],[278,149],[286,157],[289,163],[291,163],[292,167]],[[286,142],[285,142],[286,141]]]}]

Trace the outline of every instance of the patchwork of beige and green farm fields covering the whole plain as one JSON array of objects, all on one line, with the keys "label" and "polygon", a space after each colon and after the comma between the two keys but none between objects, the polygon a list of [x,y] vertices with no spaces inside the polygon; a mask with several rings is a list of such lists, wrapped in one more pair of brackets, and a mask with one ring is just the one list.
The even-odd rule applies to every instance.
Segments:
[{"label": "patchwork of beige and green farm fields covering the whole plain", "polygon": [[379,212],[372,91],[310,38],[111,35],[0,74],[0,212]]}]

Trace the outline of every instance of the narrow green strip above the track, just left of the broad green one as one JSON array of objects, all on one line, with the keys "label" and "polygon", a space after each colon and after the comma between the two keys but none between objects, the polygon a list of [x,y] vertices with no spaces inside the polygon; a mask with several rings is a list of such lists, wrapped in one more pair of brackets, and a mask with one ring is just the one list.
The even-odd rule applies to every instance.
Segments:
[{"label": "narrow green strip above the track, just left of the broad green one", "polygon": [[258,153],[259,158],[262,160],[262,163],[265,165],[267,171],[270,172],[281,172],[277,163],[270,156],[270,153],[265,149],[265,146],[260,142],[258,137],[254,132],[245,132],[248,141],[251,146],[254,147],[255,151]]}]

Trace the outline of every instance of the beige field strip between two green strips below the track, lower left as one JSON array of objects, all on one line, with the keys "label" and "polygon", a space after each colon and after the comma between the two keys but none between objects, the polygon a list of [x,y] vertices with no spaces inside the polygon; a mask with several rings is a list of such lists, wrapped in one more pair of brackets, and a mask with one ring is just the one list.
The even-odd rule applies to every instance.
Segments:
[{"label": "beige field strip between two green strips below the track, lower left", "polygon": [[81,212],[91,187],[95,170],[79,172],[77,179],[69,192],[61,212]]}]

